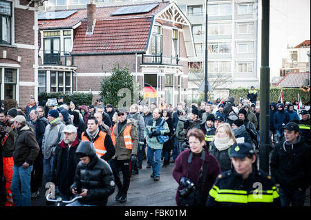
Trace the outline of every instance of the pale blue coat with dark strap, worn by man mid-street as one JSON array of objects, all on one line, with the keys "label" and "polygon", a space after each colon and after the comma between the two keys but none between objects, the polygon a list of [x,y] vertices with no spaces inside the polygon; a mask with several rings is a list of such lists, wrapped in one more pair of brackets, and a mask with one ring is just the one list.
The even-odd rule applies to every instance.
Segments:
[{"label": "pale blue coat with dark strap, worn by man mid-street", "polygon": [[[162,117],[159,117],[157,120],[152,119],[148,121],[146,128],[144,128],[144,137],[146,138],[147,145],[152,149],[162,149],[163,143],[160,143],[158,141],[158,138],[156,136],[153,136],[149,138],[149,134],[156,130],[156,126],[158,126],[162,121]],[[161,130],[161,135],[169,134],[169,126],[167,125],[167,122],[164,121],[163,130]]]}]

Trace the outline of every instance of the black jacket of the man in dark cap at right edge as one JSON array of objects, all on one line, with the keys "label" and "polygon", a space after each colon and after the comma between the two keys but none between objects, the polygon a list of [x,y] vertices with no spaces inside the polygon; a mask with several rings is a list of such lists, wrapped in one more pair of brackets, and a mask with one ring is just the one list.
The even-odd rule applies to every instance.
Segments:
[{"label": "black jacket of the man in dark cap at right edge", "polygon": [[299,135],[295,143],[276,144],[270,161],[272,178],[281,188],[302,190],[310,186],[310,146]]}]

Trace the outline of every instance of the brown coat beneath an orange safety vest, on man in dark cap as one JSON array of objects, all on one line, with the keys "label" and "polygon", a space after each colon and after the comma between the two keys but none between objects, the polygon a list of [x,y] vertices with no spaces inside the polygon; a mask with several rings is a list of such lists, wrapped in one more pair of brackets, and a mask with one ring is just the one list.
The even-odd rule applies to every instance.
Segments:
[{"label": "brown coat beneath an orange safety vest, on man in dark cap", "polygon": [[[121,128],[120,132],[118,127],[120,126],[120,121],[113,126],[113,134],[115,135],[115,155],[112,159],[117,158],[117,160],[128,160],[131,159],[131,155],[135,154],[137,155],[138,150],[138,133],[137,133],[137,126],[136,121],[134,119],[126,119],[126,124]],[[124,142],[124,130],[127,126],[132,126],[131,128],[131,139],[133,141],[133,148],[132,150],[129,150],[125,146]],[[111,134],[111,135],[113,135]]]}]

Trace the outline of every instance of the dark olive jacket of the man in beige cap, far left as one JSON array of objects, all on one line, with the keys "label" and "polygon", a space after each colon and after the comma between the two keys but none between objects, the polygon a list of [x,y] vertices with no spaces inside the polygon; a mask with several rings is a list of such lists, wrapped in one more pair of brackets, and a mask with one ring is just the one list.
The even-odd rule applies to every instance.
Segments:
[{"label": "dark olive jacket of the man in beige cap, far left", "polygon": [[14,149],[13,161],[16,166],[21,166],[24,162],[30,166],[33,164],[40,148],[32,128],[27,125],[17,128],[14,137]]}]

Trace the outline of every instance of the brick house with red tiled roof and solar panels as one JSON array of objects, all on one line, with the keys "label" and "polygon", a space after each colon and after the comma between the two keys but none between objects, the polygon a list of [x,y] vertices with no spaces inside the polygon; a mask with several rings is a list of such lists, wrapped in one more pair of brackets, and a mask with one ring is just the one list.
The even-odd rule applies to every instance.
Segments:
[{"label": "brick house with red tiled roof and solar panels", "polygon": [[191,23],[176,3],[59,10],[39,14],[39,92],[93,92],[117,63],[176,106],[186,99]]}]

